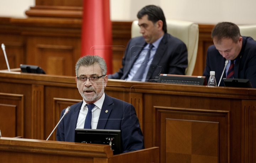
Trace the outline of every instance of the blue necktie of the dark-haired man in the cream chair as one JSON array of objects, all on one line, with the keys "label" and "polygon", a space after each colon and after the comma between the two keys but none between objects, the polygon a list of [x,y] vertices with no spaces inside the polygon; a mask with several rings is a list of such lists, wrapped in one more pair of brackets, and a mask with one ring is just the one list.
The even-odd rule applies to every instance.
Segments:
[{"label": "blue necktie of the dark-haired man in the cream chair", "polygon": [[148,53],[146,54],[144,62],[142,63],[142,65],[140,66],[140,68],[138,69],[138,71],[136,72],[136,74],[134,75],[132,80],[137,80],[137,81],[142,80],[143,74],[145,73],[145,69],[148,66],[148,62],[149,62],[149,59],[150,59],[150,51],[151,51],[152,47],[153,47],[153,45],[149,44]]}]

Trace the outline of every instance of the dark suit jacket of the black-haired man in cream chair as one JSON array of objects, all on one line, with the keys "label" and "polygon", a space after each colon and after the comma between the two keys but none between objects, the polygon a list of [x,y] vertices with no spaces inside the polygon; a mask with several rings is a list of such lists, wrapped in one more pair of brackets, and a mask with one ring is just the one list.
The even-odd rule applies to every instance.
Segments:
[{"label": "dark suit jacket of the black-haired man in cream chair", "polygon": [[[109,74],[108,78],[126,79],[137,56],[145,45],[146,42],[143,36],[130,39],[122,60],[123,67],[119,69],[119,72]],[[154,79],[159,74],[185,75],[187,64],[186,45],[181,40],[165,33],[156,50],[152,66],[150,66],[146,76],[146,81]]]}]

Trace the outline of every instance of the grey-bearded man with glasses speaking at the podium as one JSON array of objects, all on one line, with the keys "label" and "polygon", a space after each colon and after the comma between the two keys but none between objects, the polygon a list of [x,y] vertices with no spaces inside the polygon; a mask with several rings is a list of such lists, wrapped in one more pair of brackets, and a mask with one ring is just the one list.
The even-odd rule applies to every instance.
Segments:
[{"label": "grey-bearded man with glasses speaking at the podium", "polygon": [[[108,77],[103,58],[90,55],[81,57],[75,69],[77,88],[83,101],[72,105],[69,113],[59,123],[57,141],[74,142],[76,128],[111,129],[121,130],[123,152],[144,149],[135,108],[130,103],[104,93]],[[64,112],[65,109],[60,117]]]}]

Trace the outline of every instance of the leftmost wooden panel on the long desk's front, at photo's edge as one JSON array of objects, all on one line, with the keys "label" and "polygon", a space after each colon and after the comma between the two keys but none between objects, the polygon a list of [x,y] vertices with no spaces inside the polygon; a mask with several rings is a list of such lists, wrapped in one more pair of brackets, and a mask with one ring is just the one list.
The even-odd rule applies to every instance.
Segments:
[{"label": "leftmost wooden panel on the long desk's front, at photo's edge", "polygon": [[2,136],[24,137],[24,104],[23,95],[0,92],[0,130]]}]

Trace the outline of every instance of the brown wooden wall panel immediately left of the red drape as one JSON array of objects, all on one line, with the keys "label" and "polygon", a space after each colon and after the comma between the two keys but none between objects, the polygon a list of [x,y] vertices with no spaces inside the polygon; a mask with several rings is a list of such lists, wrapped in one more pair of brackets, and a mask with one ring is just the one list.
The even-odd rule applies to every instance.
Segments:
[{"label": "brown wooden wall panel immediately left of the red drape", "polygon": [[41,67],[46,74],[75,76],[75,63],[80,54],[78,39],[29,37],[27,64]]}]

